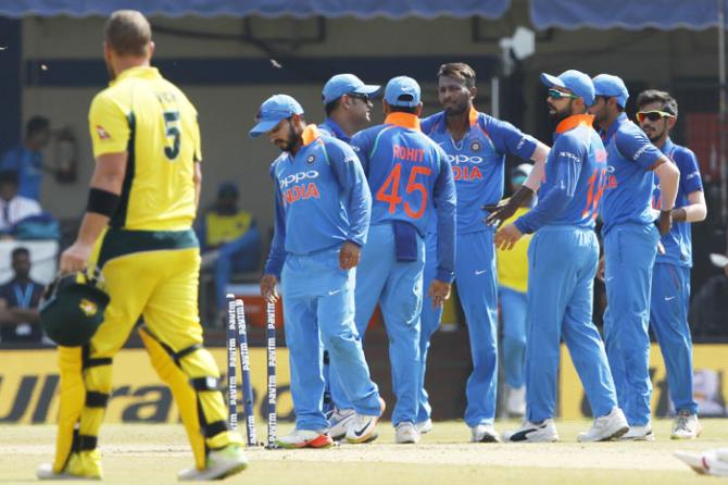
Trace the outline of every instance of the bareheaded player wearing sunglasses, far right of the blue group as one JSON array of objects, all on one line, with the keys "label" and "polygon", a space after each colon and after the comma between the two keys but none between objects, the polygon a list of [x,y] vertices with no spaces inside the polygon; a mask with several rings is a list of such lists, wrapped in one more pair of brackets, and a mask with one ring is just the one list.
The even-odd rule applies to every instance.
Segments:
[{"label": "bareheaded player wearing sunglasses, far right of the blue group", "polygon": [[[665,360],[669,395],[677,414],[671,438],[693,439],[700,435],[701,425],[692,393],[692,338],[688,326],[692,266],[690,223],[703,221],[707,208],[695,154],[669,137],[677,121],[677,101],[667,92],[648,89],[637,97],[637,120],[644,134],[680,170],[673,210],[675,224],[661,238],[665,252],[657,254],[652,270],[650,325]],[[652,204],[658,208],[660,203],[661,192],[656,187]]]}]

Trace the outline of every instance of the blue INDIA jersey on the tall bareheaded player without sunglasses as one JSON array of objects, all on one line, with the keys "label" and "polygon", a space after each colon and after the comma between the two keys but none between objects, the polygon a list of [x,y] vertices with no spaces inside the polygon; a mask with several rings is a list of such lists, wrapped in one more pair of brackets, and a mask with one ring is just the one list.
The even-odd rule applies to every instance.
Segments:
[{"label": "blue INDIA jersey on the tall bareheaded player without sunglasses", "polygon": [[503,198],[505,154],[530,159],[537,141],[511,123],[497,120],[473,108],[470,129],[455,141],[448,133],[445,112],[422,121],[428,135],[448,154],[457,190],[457,234],[489,228],[482,223],[485,204],[495,204]]}]

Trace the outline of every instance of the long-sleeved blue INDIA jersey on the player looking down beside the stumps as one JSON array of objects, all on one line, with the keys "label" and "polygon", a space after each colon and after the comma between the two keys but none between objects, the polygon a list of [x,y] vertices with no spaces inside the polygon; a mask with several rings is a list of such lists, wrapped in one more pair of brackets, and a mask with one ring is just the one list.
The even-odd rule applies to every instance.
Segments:
[{"label": "long-sleeved blue INDIA jersey on the player looking down beside the stumps", "polygon": [[271,164],[275,231],[265,273],[280,277],[286,254],[306,256],[350,240],[366,242],[372,194],[351,147],[309,125],[303,145]]}]

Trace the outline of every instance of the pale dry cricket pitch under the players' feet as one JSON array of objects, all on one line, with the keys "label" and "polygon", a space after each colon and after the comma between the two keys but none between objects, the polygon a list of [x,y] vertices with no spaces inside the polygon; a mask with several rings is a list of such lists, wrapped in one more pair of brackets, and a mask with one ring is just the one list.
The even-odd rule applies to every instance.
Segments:
[{"label": "pale dry cricket pitch under the players' feet", "polygon": [[[497,422],[499,431],[515,421]],[[670,421],[655,421],[653,443],[578,444],[591,423],[558,422],[555,444],[470,444],[462,422],[435,423],[418,445],[394,445],[389,423],[379,439],[325,450],[250,449],[250,467],[226,483],[265,484],[717,484],[673,457],[675,450],[702,451],[728,446],[728,420],[703,420],[703,435],[692,442],[669,439]],[[259,424],[259,436],[265,427]],[[279,423],[288,433],[290,423]],[[0,426],[0,484],[35,481],[35,470],[51,460],[53,426]],[[109,424],[102,428],[104,482],[161,485],[177,483],[191,453],[181,425]]]}]

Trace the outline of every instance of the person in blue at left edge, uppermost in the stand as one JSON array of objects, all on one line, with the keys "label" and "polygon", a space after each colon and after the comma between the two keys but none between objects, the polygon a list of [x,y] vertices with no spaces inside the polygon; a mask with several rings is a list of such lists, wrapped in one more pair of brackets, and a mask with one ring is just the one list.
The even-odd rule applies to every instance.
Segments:
[{"label": "person in blue at left edge, uppermost in the stand", "polygon": [[43,171],[42,149],[50,138],[50,121],[43,116],[33,116],[25,126],[25,139],[8,150],[0,160],[0,170],[17,174],[18,194],[38,202]]}]

